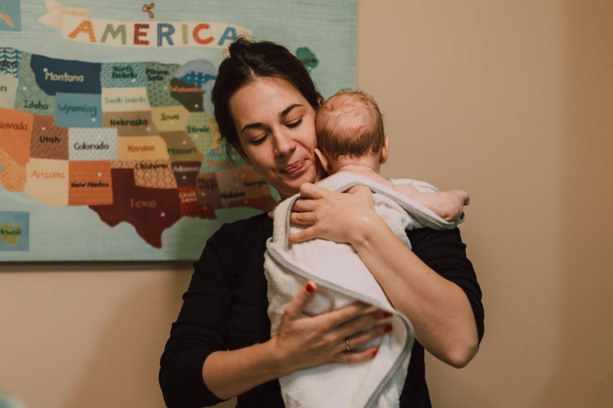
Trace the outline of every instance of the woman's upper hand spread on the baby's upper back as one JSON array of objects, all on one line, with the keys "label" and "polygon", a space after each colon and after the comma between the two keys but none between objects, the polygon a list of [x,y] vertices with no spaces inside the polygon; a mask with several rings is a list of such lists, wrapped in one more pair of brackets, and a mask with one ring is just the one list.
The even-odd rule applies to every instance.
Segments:
[{"label": "woman's upper hand spread on the baby's upper back", "polygon": [[375,212],[369,188],[358,185],[347,193],[338,193],[311,183],[300,187],[300,198],[292,206],[289,220],[307,227],[291,234],[290,242],[319,238],[352,243],[362,239],[369,229],[384,223]]}]

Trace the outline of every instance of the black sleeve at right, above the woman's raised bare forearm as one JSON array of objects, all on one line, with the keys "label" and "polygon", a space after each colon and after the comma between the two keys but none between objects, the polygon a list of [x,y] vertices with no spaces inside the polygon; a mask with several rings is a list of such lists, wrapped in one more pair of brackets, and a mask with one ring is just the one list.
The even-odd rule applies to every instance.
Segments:
[{"label": "black sleeve at right, above the woman's raised bare forearm", "polygon": [[484,332],[484,310],[481,303],[481,287],[477,282],[473,264],[466,258],[466,245],[460,230],[436,231],[422,228],[406,231],[413,252],[436,273],[457,284],[468,297],[473,308],[479,341]]}]

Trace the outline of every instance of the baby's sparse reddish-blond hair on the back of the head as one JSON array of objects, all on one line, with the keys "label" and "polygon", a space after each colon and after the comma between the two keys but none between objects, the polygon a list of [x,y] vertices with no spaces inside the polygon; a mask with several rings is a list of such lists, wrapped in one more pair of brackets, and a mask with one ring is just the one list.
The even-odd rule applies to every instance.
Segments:
[{"label": "baby's sparse reddish-blond hair on the back of the head", "polygon": [[332,160],[378,154],[385,138],[379,106],[360,89],[341,89],[332,95],[319,108],[315,128],[317,147]]}]

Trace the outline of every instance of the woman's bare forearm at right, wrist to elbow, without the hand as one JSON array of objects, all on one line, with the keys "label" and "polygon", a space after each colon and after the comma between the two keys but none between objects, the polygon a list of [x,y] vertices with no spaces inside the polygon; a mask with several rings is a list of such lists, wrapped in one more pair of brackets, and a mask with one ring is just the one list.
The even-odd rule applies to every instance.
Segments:
[{"label": "woman's bare forearm at right, wrist to elbow, without the hand", "polygon": [[351,242],[364,264],[392,305],[411,320],[425,349],[452,366],[465,366],[479,344],[465,293],[406,248],[383,219],[369,223]]}]

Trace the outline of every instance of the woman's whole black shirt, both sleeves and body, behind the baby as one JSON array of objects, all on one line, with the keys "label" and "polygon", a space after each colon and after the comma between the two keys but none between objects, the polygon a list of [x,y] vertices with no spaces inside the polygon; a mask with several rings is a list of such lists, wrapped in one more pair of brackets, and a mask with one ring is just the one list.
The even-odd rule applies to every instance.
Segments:
[{"label": "woman's whole black shirt, both sleeves and body, behind the baby", "polygon": [[[234,350],[270,339],[266,240],[272,236],[266,214],[224,224],[207,242],[183,307],[173,323],[161,358],[159,383],[169,408],[199,408],[222,400],[202,380],[202,365],[215,351]],[[481,289],[466,258],[459,229],[406,231],[413,252],[465,292],[481,340],[484,311]],[[283,407],[278,380],[259,385],[237,398],[237,407]],[[400,407],[431,407],[425,382],[424,347],[415,341]]]}]

